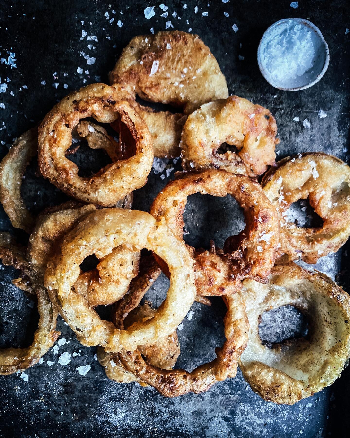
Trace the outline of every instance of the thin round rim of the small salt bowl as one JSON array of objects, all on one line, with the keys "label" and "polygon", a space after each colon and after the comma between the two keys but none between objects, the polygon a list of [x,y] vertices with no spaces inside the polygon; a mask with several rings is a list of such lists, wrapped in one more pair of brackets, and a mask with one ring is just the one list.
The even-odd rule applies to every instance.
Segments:
[{"label": "thin round rim of the small salt bowl", "polygon": [[[262,63],[261,63],[261,60],[260,60],[260,53],[261,53],[261,50],[262,50],[262,40],[264,39],[264,37],[266,37],[267,33],[269,33],[271,31],[271,29],[274,28],[276,25],[279,25],[280,23],[285,23],[287,21],[296,21],[297,23],[301,23],[303,25],[307,25],[308,27],[311,27],[318,34],[318,36],[321,39],[322,44],[325,47],[325,63],[323,65],[323,68],[322,68],[321,72],[318,73],[318,75],[316,76],[316,78],[313,81],[311,81],[308,84],[303,85],[301,87],[293,87],[293,88],[279,87],[276,83],[273,83],[273,81],[271,81],[268,78],[267,72],[266,72],[265,68],[262,67]],[[272,85],[274,88],[277,88],[277,89],[283,90],[283,91],[300,91],[300,90],[304,90],[305,88],[312,87],[313,85],[317,84],[317,82],[320,81],[323,78],[323,76],[324,76],[324,74],[327,71],[327,68],[329,66],[329,48],[328,48],[328,44],[325,42],[325,39],[324,39],[324,37],[322,35],[322,32],[311,21],[306,20],[305,18],[283,18],[282,20],[278,20],[275,23],[273,23],[271,26],[269,26],[266,29],[266,31],[262,34],[262,37],[260,39],[259,46],[258,46],[257,58],[258,58],[259,70],[260,70],[262,76],[266,79],[266,81],[270,85]]]}]

